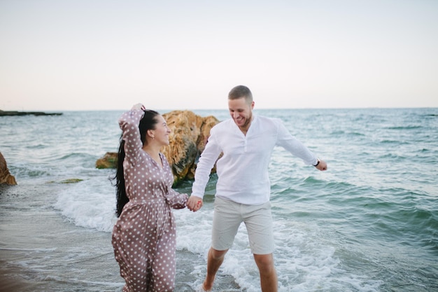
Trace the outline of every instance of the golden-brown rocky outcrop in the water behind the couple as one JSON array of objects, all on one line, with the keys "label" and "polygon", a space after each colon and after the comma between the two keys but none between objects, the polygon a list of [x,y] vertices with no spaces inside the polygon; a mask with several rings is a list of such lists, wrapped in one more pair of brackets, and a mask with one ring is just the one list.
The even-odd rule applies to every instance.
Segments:
[{"label": "golden-brown rocky outcrop in the water behind the couple", "polygon": [[[166,155],[172,172],[174,185],[181,181],[195,178],[195,169],[204,151],[211,128],[219,123],[214,116],[201,117],[192,111],[171,111],[163,114],[167,125],[171,129],[169,146],[162,149]],[[106,153],[96,162],[97,168],[117,167],[117,153]],[[212,172],[215,172],[213,169]]]}]

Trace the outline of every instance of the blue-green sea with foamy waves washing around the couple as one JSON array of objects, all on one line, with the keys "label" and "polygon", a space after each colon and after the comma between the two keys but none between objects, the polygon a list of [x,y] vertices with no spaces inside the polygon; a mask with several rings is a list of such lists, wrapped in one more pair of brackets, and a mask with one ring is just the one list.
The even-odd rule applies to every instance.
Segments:
[{"label": "blue-green sea with foamy waves washing around the couple", "polygon": [[[111,246],[115,171],[95,163],[118,150],[123,111],[0,117],[0,152],[17,180],[0,186],[0,281],[9,283],[0,291],[122,291]],[[281,118],[328,165],[320,172],[283,148],[272,153],[278,291],[438,291],[437,108],[254,113]],[[206,274],[216,181],[202,209],[174,210],[177,292],[196,291]],[[261,291],[244,225],[213,291]]]}]

